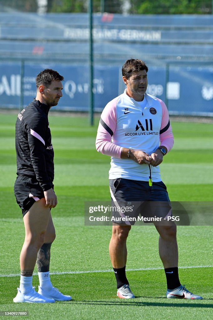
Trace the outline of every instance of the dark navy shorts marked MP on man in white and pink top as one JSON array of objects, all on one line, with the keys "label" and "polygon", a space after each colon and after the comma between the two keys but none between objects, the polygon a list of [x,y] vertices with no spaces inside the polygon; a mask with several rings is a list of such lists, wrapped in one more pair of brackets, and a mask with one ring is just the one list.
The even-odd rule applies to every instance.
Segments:
[{"label": "dark navy shorts marked MP on man in white and pink top", "polygon": [[134,225],[139,215],[144,223],[171,216],[171,204],[163,181],[153,182],[150,188],[148,181],[118,178],[110,180],[110,194],[111,205],[117,207],[112,210],[112,221],[119,225]]}]

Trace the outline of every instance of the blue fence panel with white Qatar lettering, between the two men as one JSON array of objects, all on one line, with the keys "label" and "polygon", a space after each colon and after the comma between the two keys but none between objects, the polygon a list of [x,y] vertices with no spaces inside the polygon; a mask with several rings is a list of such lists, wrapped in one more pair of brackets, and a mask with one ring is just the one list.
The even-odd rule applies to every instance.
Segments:
[{"label": "blue fence panel with white Qatar lettering, between the two men", "polygon": [[[24,105],[36,95],[35,77],[44,68],[57,70],[64,76],[63,98],[54,110],[88,111],[89,101],[89,68],[88,66],[69,64],[25,65],[24,72]],[[94,70],[93,92],[95,111],[118,95],[118,67],[96,66]]]}]

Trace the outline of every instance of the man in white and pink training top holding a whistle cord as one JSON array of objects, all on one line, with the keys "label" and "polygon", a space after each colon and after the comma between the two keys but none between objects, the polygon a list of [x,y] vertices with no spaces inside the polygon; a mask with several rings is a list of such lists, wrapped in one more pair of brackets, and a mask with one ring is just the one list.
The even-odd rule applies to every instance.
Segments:
[{"label": "man in white and pink training top holding a whistle cord", "polygon": [[[109,251],[117,296],[134,298],[125,272],[126,239],[131,225],[141,214],[144,222],[155,224],[160,235],[159,254],[167,281],[166,297],[202,299],[179,281],[176,225],[167,221],[171,204],[159,170],[163,156],[173,147],[173,134],[164,102],[146,93],[147,72],[143,61],[126,60],[122,67],[126,90],[104,108],[96,138],[97,151],[111,156],[110,194],[117,211],[113,212]],[[122,207],[129,210],[124,212]]]}]

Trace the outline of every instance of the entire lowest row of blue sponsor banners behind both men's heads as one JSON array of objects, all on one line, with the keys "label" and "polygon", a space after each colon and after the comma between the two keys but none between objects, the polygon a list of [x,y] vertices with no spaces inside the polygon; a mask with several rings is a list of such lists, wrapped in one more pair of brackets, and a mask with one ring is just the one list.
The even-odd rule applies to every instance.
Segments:
[{"label": "entire lowest row of blue sponsor banners behind both men's heads", "polygon": [[[24,65],[24,107],[36,96],[35,77],[45,68],[64,76],[63,99],[54,110],[88,111],[89,69],[87,65],[33,64]],[[98,65],[94,68],[93,92],[95,111],[126,88],[120,66]],[[147,92],[166,102],[170,114],[213,116],[213,66],[169,66],[166,83],[165,66],[149,66]],[[0,107],[20,108],[21,64],[0,64]]]}]

